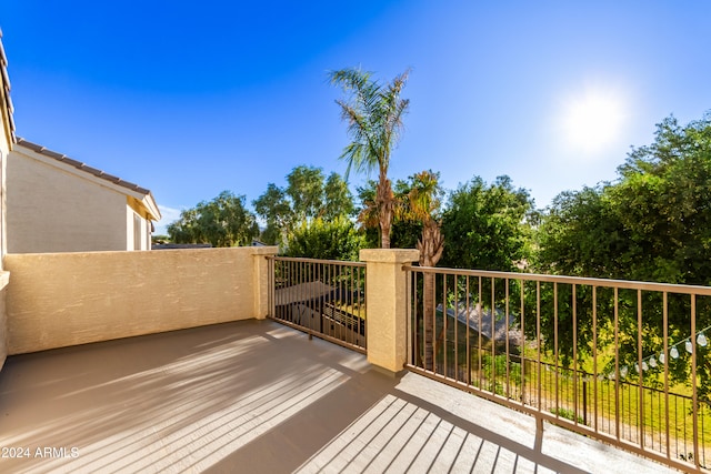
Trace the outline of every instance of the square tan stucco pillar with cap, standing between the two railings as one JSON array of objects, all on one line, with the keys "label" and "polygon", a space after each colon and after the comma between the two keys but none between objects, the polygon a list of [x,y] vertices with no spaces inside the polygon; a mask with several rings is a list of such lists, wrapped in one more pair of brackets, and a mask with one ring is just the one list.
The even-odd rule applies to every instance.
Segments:
[{"label": "square tan stucco pillar with cap, standing between the two railings", "polygon": [[407,362],[408,307],[405,263],[418,261],[410,249],[364,249],[365,302],[368,304],[368,362],[397,374]]}]

